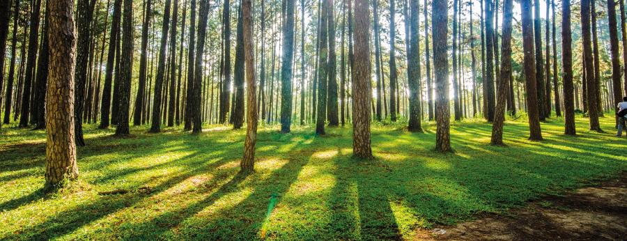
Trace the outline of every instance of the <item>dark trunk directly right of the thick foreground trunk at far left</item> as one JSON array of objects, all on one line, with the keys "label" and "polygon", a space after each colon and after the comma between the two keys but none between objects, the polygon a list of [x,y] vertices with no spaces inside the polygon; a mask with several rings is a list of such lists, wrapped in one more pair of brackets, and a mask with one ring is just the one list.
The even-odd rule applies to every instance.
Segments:
[{"label": "dark trunk directly right of the thick foreground trunk at far left", "polygon": [[74,137],[77,146],[85,146],[83,138],[83,106],[85,98],[85,84],[87,82],[87,63],[89,58],[89,43],[91,40],[91,18],[93,11],[89,6],[89,0],[78,0],[77,4],[77,33],[76,68],[74,74]]}]

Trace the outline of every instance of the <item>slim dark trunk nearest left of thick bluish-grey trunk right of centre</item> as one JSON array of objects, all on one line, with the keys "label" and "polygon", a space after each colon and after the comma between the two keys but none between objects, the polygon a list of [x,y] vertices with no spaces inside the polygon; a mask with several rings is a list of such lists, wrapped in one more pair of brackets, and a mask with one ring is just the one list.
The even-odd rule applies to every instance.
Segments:
[{"label": "slim dark trunk nearest left of thick bluish-grey trunk right of centre", "polygon": [[396,49],[394,40],[396,39],[396,26],[394,23],[394,0],[389,1],[389,118],[396,121]]}]

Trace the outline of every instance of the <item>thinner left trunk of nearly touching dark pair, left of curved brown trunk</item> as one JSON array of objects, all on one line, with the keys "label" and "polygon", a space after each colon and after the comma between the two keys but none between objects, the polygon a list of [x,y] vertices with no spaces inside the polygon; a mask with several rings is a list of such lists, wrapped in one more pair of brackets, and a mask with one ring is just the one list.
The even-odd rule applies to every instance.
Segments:
[{"label": "thinner left trunk of nearly touching dark pair, left of curved brown trunk", "polygon": [[194,116],[194,50],[196,49],[196,0],[192,0],[189,16],[189,45],[187,48],[187,86],[185,87],[185,125],[183,130],[192,130]]}]

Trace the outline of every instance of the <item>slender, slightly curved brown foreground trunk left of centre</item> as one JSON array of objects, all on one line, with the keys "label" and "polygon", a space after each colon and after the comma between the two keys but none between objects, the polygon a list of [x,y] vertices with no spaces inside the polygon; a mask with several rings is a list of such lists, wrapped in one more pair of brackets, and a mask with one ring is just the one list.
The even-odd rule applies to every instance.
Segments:
[{"label": "slender, slightly curved brown foreground trunk left of centre", "polygon": [[242,0],[242,17],[244,19],[244,53],[246,59],[246,87],[247,87],[247,128],[244,142],[244,158],[240,164],[242,173],[254,171],[255,143],[257,141],[257,104],[255,86],[255,56],[252,43],[251,0]]}]

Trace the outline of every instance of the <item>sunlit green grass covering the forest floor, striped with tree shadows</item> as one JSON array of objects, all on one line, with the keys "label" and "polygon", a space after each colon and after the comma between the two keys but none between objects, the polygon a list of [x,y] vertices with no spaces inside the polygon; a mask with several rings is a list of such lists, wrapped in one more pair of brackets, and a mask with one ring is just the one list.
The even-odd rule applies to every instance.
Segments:
[{"label": "sunlit green grass covering the forest floor, striped with tree shadows", "polygon": [[[244,130],[207,126],[132,137],[86,126],[79,182],[43,194],[45,133],[0,130],[0,240],[375,240],[412,238],[417,228],[454,224],[481,212],[507,212],[627,170],[627,139],[563,123],[543,123],[545,141],[527,141],[525,120],[506,122],[506,147],[490,146],[491,126],[451,126],[454,153],[435,147],[435,125],[412,134],[373,125],[376,160],[352,154],[352,129],[313,127],[279,134],[260,128],[256,173],[237,176]],[[102,192],[127,190],[124,194]]]}]

